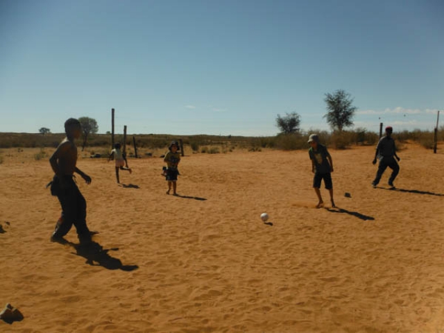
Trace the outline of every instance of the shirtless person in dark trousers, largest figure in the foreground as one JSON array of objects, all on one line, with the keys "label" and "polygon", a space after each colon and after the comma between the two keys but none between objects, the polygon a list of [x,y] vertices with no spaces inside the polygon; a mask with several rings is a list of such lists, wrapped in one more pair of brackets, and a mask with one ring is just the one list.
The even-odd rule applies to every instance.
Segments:
[{"label": "shirtless person in dark trousers, largest figure in the foreground", "polygon": [[51,241],[62,241],[74,224],[80,243],[89,243],[91,234],[86,225],[86,200],[80,193],[74,178],[74,172],[78,173],[85,182],[91,184],[91,177],[76,167],[77,147],[74,139],[78,139],[81,133],[80,122],[70,118],[65,121],[67,137],[60,142],[56,151],[49,158],[49,163],[55,176],[51,184],[51,194],[57,196],[62,206],[62,215],[56,223]]}]

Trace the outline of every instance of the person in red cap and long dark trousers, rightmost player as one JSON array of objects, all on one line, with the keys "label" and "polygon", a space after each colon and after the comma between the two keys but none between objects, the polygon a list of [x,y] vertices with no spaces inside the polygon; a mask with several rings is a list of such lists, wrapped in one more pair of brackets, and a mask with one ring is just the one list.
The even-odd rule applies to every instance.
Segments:
[{"label": "person in red cap and long dark trousers, rightmost player", "polygon": [[[379,139],[379,142],[376,146],[375,158],[373,159],[373,165],[376,164],[377,158],[379,158],[379,165],[376,171],[375,180],[373,180],[372,185],[373,188],[376,188],[379,180],[381,180],[382,173],[386,171],[387,167],[392,169],[392,173],[390,178],[388,178],[388,185],[391,188],[395,188],[393,182],[395,181],[396,176],[400,172],[400,166],[396,160],[400,161],[400,157],[396,155],[396,145],[395,139],[391,137],[391,133],[393,133],[393,128],[391,126],[386,127],[386,135]],[[396,157],[396,160],[395,160]]]}]

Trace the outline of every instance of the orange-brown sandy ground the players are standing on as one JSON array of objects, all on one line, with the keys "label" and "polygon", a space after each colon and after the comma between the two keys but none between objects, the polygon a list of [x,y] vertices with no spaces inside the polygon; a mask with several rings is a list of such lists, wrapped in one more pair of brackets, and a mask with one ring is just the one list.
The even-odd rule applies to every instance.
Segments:
[{"label": "orange-brown sandy ground the players are standing on", "polygon": [[162,158],[123,186],[79,158],[85,248],[49,241],[47,157],[3,150],[0,309],[24,320],[0,332],[444,332],[443,151],[404,146],[397,190],[370,186],[373,146],[331,151],[336,209],[325,189],[315,208],[307,151],[182,157],[178,197]]}]

